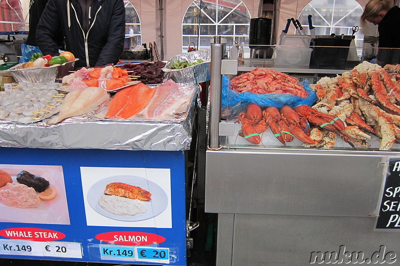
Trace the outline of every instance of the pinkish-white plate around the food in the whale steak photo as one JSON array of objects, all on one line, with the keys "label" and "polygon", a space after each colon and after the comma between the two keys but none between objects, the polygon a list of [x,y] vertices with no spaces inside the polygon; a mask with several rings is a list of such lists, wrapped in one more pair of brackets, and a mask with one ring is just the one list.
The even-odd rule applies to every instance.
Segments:
[{"label": "pinkish-white plate around the food in the whale steak photo", "polygon": [[57,195],[49,201],[41,201],[38,208],[16,208],[5,205],[0,200],[0,222],[59,224],[69,225],[68,206],[66,202],[65,186],[62,168],[57,166],[35,165],[0,165],[0,169],[11,175],[12,182],[21,170],[41,176],[57,190]]}]

